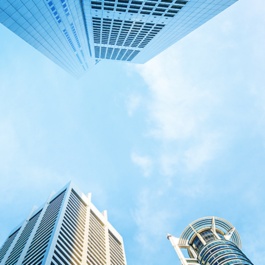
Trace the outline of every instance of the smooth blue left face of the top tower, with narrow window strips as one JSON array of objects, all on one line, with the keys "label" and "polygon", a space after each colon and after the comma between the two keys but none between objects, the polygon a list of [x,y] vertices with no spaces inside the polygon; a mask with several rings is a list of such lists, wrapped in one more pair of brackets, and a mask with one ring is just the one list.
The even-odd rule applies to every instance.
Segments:
[{"label": "smooth blue left face of the top tower, with narrow window strips", "polygon": [[80,1],[1,0],[0,23],[75,76],[93,64]]}]

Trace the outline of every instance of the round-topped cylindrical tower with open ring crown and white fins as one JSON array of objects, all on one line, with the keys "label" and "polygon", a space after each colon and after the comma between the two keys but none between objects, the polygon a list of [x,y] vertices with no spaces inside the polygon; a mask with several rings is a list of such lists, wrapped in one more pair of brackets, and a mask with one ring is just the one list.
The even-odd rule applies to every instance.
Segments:
[{"label": "round-topped cylindrical tower with open ring crown and white fins", "polygon": [[198,219],[179,238],[168,235],[168,239],[182,265],[253,265],[241,250],[235,227],[218,217]]}]

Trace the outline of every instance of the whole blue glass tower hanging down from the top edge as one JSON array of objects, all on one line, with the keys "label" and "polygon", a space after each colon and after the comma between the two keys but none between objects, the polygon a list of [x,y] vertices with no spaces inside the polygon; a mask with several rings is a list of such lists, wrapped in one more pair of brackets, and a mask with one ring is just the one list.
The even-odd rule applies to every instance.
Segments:
[{"label": "whole blue glass tower hanging down from the top edge", "polygon": [[74,75],[145,63],[237,0],[1,0],[0,23]]}]

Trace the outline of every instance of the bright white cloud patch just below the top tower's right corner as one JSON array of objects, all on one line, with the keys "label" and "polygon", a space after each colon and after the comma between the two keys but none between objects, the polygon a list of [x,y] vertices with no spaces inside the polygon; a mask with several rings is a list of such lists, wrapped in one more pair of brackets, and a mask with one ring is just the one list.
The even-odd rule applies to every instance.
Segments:
[{"label": "bright white cloud patch just below the top tower's right corner", "polygon": [[161,144],[161,172],[179,166],[196,170],[220,150],[222,133],[211,127],[219,99],[210,87],[197,87],[184,70],[180,52],[166,51],[137,70],[148,85],[147,135]]}]

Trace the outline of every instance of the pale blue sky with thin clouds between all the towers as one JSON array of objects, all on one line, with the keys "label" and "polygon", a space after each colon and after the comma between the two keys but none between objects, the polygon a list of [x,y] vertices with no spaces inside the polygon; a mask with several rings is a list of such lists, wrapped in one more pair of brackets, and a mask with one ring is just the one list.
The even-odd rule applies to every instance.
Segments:
[{"label": "pale blue sky with thin clouds between all the towers", "polygon": [[264,263],[264,13],[240,0],[144,65],[79,79],[0,25],[0,244],[72,180],[128,265],[179,265],[167,233],[204,216]]}]

